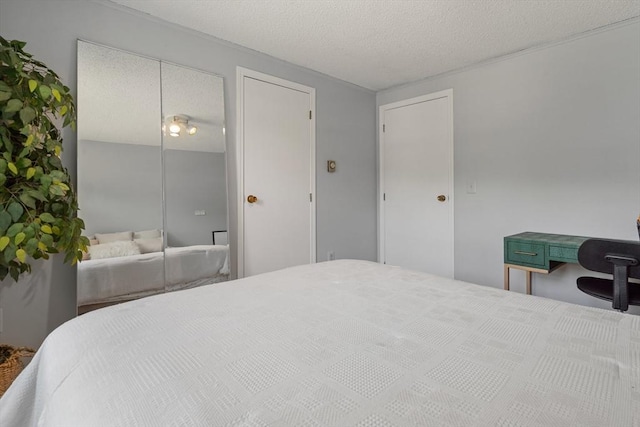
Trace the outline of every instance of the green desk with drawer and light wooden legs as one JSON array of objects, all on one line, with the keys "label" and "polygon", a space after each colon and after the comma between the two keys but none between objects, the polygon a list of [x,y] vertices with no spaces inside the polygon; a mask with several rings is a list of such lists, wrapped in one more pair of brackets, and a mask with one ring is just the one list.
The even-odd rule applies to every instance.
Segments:
[{"label": "green desk with drawer and light wooden legs", "polygon": [[504,238],[504,289],[509,290],[509,269],[527,273],[527,295],[531,295],[531,273],[549,274],[566,263],[578,263],[578,248],[589,237],[564,234],[524,233]]}]

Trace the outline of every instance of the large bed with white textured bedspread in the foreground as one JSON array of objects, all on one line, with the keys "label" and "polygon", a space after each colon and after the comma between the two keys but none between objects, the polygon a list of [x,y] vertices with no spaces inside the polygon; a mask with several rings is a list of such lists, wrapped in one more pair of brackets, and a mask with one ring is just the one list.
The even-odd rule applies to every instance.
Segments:
[{"label": "large bed with white textured bedspread in the foreground", "polygon": [[366,261],[73,319],[0,425],[637,426],[640,318]]}]

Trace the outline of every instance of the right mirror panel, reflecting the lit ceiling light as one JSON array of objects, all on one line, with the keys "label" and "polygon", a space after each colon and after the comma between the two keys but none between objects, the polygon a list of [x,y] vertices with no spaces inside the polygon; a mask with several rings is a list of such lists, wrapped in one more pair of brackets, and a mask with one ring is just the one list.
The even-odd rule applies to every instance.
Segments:
[{"label": "right mirror panel, reflecting the lit ceiling light", "polygon": [[166,62],[161,73],[165,277],[174,290],[228,279],[224,96],[218,76]]}]

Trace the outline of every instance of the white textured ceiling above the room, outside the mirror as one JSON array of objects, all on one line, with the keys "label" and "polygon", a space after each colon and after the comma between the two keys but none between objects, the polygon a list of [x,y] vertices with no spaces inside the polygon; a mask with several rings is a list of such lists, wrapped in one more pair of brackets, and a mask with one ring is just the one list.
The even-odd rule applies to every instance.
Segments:
[{"label": "white textured ceiling above the room, outside the mirror", "polygon": [[640,0],[113,0],[372,90],[640,15]]}]

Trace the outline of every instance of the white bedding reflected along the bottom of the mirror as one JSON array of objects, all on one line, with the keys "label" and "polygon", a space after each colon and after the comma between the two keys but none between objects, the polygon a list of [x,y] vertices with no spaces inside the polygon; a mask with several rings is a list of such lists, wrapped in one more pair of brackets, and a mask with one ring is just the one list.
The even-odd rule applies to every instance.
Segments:
[{"label": "white bedding reflected along the bottom of the mirror", "polygon": [[229,247],[196,245],[78,264],[78,305],[110,302],[218,281],[229,274]]}]

